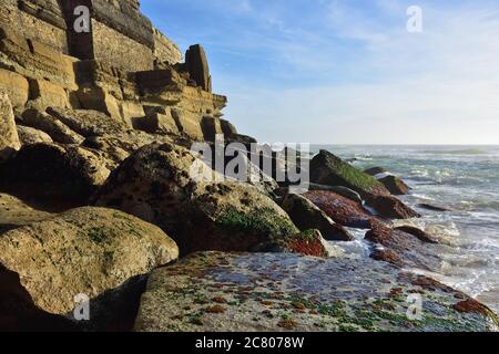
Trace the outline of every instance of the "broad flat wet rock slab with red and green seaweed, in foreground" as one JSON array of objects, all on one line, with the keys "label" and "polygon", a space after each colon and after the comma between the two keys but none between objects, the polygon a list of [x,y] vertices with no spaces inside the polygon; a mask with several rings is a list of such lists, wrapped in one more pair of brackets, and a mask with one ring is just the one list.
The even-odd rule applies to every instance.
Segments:
[{"label": "broad flat wet rock slab with red and green seaweed, in foreground", "polygon": [[[407,316],[420,295],[421,319]],[[431,279],[371,260],[193,254],[155,270],[136,331],[496,331],[486,306]]]}]

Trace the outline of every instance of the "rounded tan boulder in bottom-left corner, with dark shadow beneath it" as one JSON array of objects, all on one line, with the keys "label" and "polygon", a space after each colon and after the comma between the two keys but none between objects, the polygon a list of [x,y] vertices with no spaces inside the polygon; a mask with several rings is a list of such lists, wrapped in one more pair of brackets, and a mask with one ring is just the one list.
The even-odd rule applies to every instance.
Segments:
[{"label": "rounded tan boulder in bottom-left corner, with dark shadow beneath it", "polygon": [[[110,209],[73,209],[9,231],[0,238],[1,330],[29,327],[33,317],[37,330],[52,330],[43,319],[53,315],[92,330],[130,329],[144,275],[177,256],[161,229]],[[82,295],[90,321],[79,323]]]}]

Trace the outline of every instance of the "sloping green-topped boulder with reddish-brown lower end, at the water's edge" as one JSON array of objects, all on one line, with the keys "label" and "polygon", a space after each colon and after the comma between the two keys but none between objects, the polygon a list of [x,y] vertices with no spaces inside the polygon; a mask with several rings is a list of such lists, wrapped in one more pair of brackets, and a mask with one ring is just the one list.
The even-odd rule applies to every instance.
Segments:
[{"label": "sloping green-topped boulder with reddish-brown lower end, at the water's edge", "polygon": [[329,152],[322,150],[310,162],[310,181],[343,186],[357,191],[380,217],[407,219],[419,215],[400,200],[375,177],[363,173]]}]

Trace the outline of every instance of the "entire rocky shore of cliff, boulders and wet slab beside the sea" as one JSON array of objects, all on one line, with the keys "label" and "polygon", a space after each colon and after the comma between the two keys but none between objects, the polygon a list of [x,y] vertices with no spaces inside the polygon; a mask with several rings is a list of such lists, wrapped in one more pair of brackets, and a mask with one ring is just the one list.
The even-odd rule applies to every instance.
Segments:
[{"label": "entire rocky shore of cliff, boulders and wet slab beside the sea", "polygon": [[[326,150],[304,194],[273,153],[267,175],[244,155],[264,178],[227,178],[193,144],[256,140],[222,118],[202,46],[182,61],[135,0],[90,1],[83,37],[57,1],[21,2],[0,9],[0,331],[499,330],[483,304],[407,271],[436,268],[438,239],[393,227],[419,217],[401,179]],[[348,228],[370,259],[334,251]]]}]

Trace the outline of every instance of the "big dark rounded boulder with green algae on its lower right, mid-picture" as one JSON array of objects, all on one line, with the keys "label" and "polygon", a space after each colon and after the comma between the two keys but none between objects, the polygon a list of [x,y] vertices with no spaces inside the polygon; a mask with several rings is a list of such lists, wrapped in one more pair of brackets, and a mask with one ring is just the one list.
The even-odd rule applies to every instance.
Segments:
[{"label": "big dark rounded boulder with green algae on its lower right, mid-picture", "polygon": [[286,212],[256,187],[226,181],[187,149],[167,143],[134,153],[112,173],[94,200],[160,226],[183,254],[308,240],[296,237],[299,230]]}]

